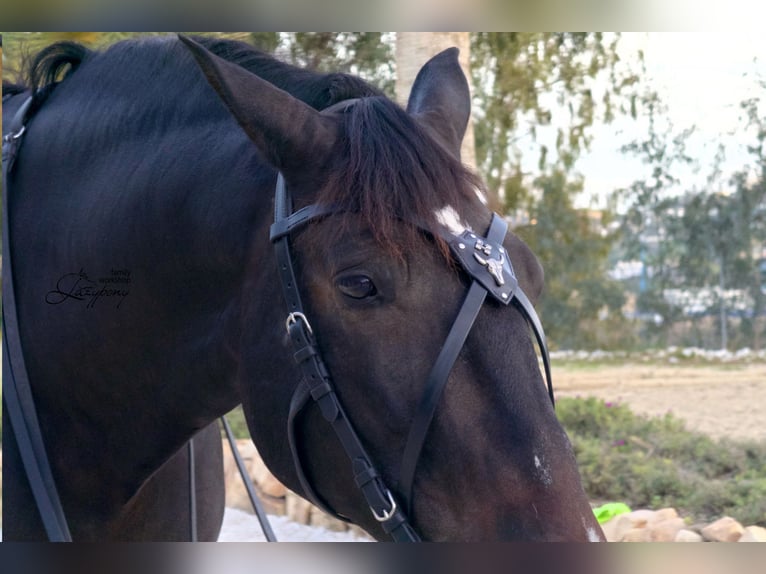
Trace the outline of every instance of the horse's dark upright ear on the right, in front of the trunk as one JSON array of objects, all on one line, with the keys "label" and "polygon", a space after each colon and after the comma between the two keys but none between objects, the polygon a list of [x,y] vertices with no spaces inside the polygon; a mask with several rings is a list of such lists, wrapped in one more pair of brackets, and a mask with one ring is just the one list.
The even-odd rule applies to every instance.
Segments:
[{"label": "horse's dark upright ear on the right, in front of the trunk", "polygon": [[457,48],[431,58],[412,85],[407,112],[430,127],[456,158],[471,115],[471,92]]}]

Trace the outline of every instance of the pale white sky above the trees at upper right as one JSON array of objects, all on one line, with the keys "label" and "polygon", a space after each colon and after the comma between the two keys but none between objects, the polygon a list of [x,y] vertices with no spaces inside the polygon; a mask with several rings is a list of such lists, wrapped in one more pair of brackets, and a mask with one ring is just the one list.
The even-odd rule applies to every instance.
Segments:
[{"label": "pale white sky above the trees at upper right", "polygon": [[[738,121],[739,103],[766,92],[758,84],[759,78],[766,82],[766,35],[748,31],[623,33],[620,49],[625,58],[638,49],[644,51],[647,81],[667,106],[675,128],[696,126],[688,151],[701,159],[701,165],[697,173],[680,174],[684,188],[705,186],[719,142],[726,146],[725,174],[749,161],[745,146],[753,137]],[[764,115],[766,98],[762,100]],[[594,197],[602,204],[614,189],[645,177],[646,166],[638,158],[621,154],[619,147],[646,133],[647,123],[633,120],[594,130],[592,148],[578,163],[585,176],[580,206],[590,204]]]}]

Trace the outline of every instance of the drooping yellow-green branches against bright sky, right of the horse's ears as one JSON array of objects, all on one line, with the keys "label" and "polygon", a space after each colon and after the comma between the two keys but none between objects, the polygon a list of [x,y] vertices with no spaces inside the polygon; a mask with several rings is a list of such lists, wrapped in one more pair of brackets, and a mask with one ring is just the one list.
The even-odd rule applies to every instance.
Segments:
[{"label": "drooping yellow-green branches against bright sky, right of the horse's ears", "polygon": [[[594,124],[618,112],[635,114],[639,78],[621,65],[618,41],[601,33],[472,34],[477,162],[510,209],[534,201],[529,189],[516,185],[522,175],[518,139],[554,127],[556,153],[540,146],[540,170],[570,171],[590,144]],[[607,78],[602,93],[596,92],[597,77]]]}]

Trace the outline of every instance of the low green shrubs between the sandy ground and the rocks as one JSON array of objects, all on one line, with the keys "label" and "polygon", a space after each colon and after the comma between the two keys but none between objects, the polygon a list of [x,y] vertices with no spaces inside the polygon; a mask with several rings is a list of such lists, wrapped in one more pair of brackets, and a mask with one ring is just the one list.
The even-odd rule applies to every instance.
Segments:
[{"label": "low green shrubs between the sandy ground and the rocks", "polygon": [[560,399],[557,413],[591,498],[766,525],[766,443],[714,441],[671,414],[643,417],[595,398]]}]

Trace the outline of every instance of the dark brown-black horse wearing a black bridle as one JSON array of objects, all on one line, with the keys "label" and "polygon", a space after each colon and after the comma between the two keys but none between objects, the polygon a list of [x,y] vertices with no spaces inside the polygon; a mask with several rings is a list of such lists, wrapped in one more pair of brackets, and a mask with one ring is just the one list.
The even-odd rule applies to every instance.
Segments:
[{"label": "dark brown-black horse wearing a black bridle", "polygon": [[[348,419],[401,499],[408,431],[469,281],[441,237],[483,234],[492,217],[459,159],[470,100],[457,51],[423,67],[405,111],[358,78],[200,42],[57,44],[29,78],[5,248],[73,538],[186,537],[173,490],[201,431],[199,466],[213,469],[198,478],[201,538],[215,539],[210,425],[242,403],[282,482],[310,495],[302,467],[328,507],[387,539],[316,406],[292,413],[294,463],[286,430],[302,373],[269,242],[274,188],[281,172],[296,208],[336,206],[293,234],[297,284]],[[540,265],[513,234],[503,244],[534,300]],[[39,539],[11,438],[3,535]],[[417,461],[409,518],[426,540],[601,538],[513,305],[478,312]]]}]

